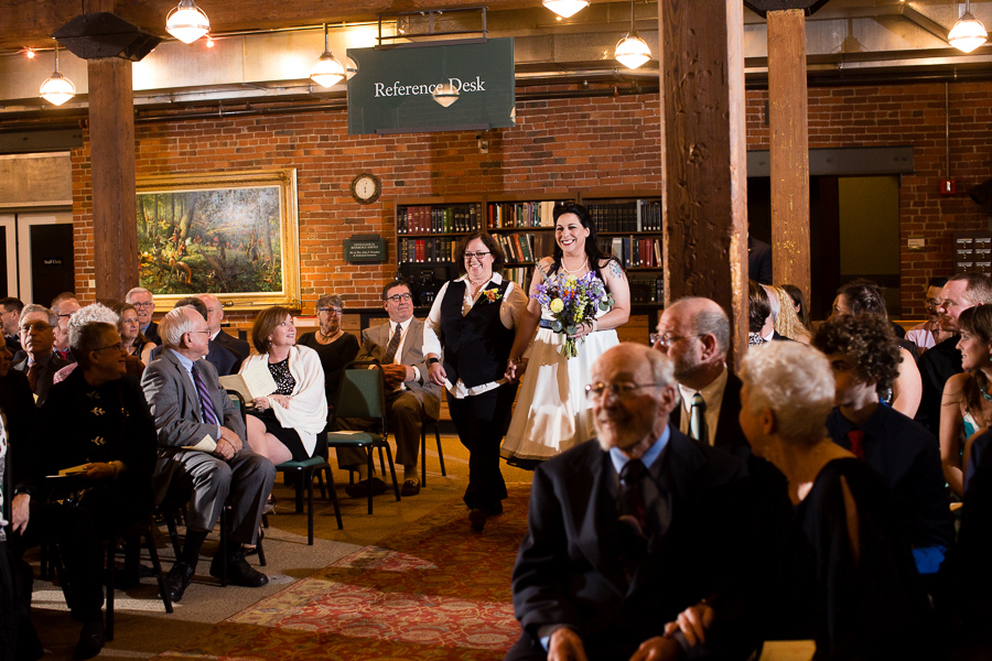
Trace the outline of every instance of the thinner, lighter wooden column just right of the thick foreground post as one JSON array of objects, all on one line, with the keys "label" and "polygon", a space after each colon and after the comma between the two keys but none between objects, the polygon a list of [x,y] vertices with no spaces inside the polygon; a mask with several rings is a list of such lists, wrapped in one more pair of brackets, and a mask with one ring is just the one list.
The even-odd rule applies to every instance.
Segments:
[{"label": "thinner, lighter wooden column just right of the thick foreground post", "polygon": [[795,284],[810,301],[806,14],[769,11],[767,19],[772,270],[775,284]]}]

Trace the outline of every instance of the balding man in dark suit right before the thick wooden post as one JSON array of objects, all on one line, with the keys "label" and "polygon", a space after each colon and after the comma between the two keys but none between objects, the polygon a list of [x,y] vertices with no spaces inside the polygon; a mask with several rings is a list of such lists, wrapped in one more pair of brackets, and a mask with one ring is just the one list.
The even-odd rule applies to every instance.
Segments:
[{"label": "balding man in dark suit right before the thick wooden post", "polygon": [[714,301],[681,299],[658,318],[653,346],[675,364],[682,403],[672,425],[697,441],[738,456],[748,449],[741,431],[741,380],[726,369],[730,319]]}]

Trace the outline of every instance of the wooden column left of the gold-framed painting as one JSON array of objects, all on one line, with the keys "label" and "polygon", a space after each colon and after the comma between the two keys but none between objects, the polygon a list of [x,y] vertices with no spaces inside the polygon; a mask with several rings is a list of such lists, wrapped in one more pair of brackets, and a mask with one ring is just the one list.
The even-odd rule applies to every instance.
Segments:
[{"label": "wooden column left of the gold-framed painting", "polygon": [[90,59],[87,74],[96,297],[122,301],[138,284],[131,63]]}]

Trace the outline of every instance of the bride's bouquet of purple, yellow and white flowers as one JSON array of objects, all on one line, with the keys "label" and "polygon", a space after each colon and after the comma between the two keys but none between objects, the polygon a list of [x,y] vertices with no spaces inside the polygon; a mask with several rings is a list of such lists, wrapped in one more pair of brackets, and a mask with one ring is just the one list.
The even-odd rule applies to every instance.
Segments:
[{"label": "bride's bouquet of purple, yellow and white flowers", "polygon": [[[591,322],[600,310],[610,310],[613,305],[613,294],[606,293],[603,281],[590,271],[582,278],[574,275],[549,278],[537,285],[533,294],[541,307],[547,310],[554,321],[551,329],[568,336],[561,347],[561,355],[565,358],[574,358],[579,355],[575,338],[579,326]],[[584,337],[579,342],[584,342]]]}]

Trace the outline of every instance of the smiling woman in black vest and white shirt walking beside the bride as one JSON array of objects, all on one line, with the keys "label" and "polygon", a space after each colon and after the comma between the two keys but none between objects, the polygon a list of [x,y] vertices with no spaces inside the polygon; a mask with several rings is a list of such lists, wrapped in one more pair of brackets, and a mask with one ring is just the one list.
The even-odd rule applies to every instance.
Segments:
[{"label": "smiling woman in black vest and white shirt walking beside the bride", "polygon": [[503,513],[499,443],[517,393],[505,372],[527,308],[527,294],[499,274],[505,261],[485,231],[465,237],[455,249],[463,275],[438,292],[423,329],[431,381],[448,390],[451,419],[468,448],[465,505],[476,531]]}]

